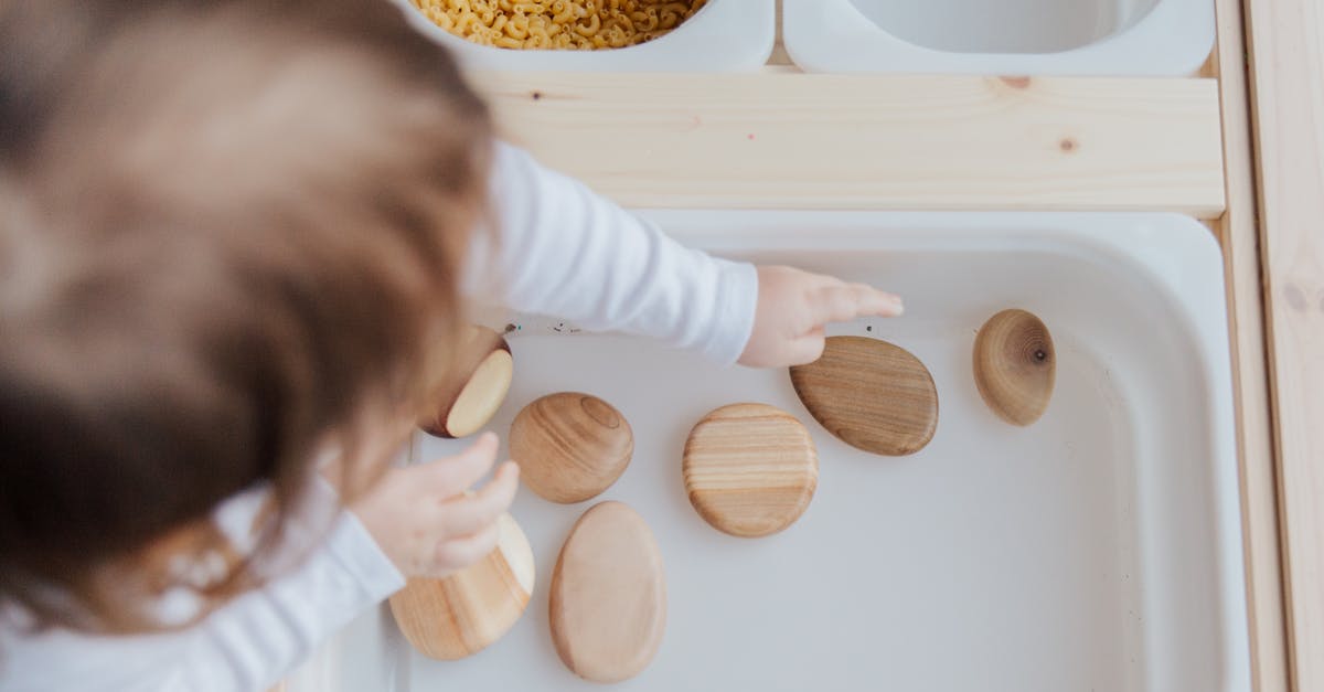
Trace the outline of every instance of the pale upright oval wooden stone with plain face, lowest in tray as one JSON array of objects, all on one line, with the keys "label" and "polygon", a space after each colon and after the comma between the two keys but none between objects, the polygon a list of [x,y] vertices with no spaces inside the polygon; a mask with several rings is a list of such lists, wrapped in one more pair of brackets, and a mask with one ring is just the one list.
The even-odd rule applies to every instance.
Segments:
[{"label": "pale upright oval wooden stone with plain face, lowest in tray", "polygon": [[621,502],[575,524],[552,571],[552,642],[575,675],[618,683],[647,668],[666,630],[662,553],[643,517]]}]

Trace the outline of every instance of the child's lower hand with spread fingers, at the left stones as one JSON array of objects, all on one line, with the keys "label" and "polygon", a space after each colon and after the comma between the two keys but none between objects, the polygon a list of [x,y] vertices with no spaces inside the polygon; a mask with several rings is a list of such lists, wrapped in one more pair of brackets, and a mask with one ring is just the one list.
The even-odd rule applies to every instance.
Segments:
[{"label": "child's lower hand with spread fingers, at the left stones", "polygon": [[495,461],[496,435],[485,432],[455,456],[388,471],[351,510],[405,575],[445,577],[496,546],[496,517],[515,498],[519,468],[506,461],[466,493]]}]

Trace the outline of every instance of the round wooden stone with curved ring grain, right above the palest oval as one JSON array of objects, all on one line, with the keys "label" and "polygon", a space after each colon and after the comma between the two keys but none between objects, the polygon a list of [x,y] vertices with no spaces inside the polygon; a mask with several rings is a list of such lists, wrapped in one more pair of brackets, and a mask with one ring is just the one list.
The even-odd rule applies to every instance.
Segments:
[{"label": "round wooden stone with curved ring grain, right above the palest oval", "polygon": [[553,502],[583,502],[621,477],[634,432],[612,404],[580,392],[543,396],[510,426],[510,456],[520,477]]}]

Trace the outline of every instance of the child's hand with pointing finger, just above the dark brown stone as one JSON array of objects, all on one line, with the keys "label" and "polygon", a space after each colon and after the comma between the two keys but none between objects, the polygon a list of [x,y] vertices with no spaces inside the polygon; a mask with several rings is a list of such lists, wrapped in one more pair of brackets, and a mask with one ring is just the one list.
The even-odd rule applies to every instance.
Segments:
[{"label": "child's hand with pointing finger, just above the dark brown stone", "polygon": [[759,308],[740,365],[812,363],[824,353],[825,323],[899,314],[902,300],[873,286],[790,266],[760,266]]}]

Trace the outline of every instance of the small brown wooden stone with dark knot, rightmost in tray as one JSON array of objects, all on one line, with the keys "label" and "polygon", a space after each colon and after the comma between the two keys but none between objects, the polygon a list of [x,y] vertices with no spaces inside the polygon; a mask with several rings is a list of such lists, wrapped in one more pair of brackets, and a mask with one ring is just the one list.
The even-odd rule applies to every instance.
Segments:
[{"label": "small brown wooden stone with dark knot, rightmost in tray", "polygon": [[1057,382],[1053,337],[1025,310],[1002,310],[974,338],[974,383],[984,403],[1013,426],[1043,415]]}]

